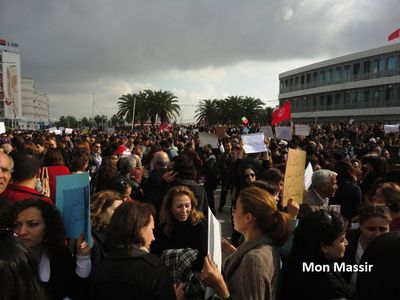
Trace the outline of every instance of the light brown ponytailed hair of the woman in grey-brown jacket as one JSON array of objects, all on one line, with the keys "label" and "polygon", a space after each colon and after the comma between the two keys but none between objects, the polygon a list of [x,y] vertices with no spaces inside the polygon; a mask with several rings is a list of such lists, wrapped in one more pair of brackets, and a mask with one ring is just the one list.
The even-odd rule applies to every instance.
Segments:
[{"label": "light brown ponytailed hair of the woman in grey-brown jacket", "polygon": [[290,217],[278,210],[270,193],[250,186],[240,191],[239,200],[243,211],[255,217],[257,228],[270,236],[276,246],[281,246],[287,241],[290,234]]}]

